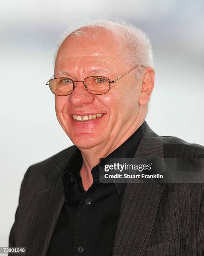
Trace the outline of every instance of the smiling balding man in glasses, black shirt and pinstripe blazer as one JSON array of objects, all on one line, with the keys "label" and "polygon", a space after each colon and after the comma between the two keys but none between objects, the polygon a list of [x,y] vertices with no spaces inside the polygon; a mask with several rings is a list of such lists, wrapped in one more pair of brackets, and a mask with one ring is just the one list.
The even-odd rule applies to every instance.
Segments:
[{"label": "smiling balding man in glasses, black shirt and pinstripe blazer", "polygon": [[154,87],[147,36],[109,21],[78,28],[47,84],[75,146],[27,170],[9,246],[40,256],[203,255],[204,184],[99,181],[100,158],[204,156],[204,147],[158,136],[145,122]]}]

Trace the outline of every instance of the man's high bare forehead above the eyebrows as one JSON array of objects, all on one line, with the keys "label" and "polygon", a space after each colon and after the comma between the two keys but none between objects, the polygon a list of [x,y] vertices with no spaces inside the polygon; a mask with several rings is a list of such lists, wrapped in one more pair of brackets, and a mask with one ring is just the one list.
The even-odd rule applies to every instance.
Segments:
[{"label": "man's high bare forehead above the eyebrows", "polygon": [[90,59],[90,61],[106,61],[119,58],[122,51],[122,40],[107,30],[95,35],[89,31],[86,36],[68,36],[57,53],[56,64],[68,59]]}]

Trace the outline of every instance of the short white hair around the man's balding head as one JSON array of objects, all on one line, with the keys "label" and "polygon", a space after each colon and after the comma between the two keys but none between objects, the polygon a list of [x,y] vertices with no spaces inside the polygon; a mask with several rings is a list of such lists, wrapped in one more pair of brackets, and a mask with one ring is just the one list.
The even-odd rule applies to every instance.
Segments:
[{"label": "short white hair around the man's balding head", "polygon": [[[152,46],[146,33],[134,25],[125,22],[124,20],[97,20],[91,23],[80,24],[80,26],[70,27],[60,36],[57,43],[54,62],[57,57],[57,52],[67,36],[73,37],[90,37],[87,31],[91,31],[95,28],[104,28],[114,34],[113,26],[118,26],[125,34],[123,41],[127,47],[122,47],[122,54],[124,54],[127,62],[135,66],[154,67]],[[92,37],[95,37],[96,33],[92,33]]]}]

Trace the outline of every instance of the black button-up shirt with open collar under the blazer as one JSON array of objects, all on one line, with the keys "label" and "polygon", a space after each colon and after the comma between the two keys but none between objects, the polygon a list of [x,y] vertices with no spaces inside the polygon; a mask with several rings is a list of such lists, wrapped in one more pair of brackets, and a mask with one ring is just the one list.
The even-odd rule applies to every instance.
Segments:
[{"label": "black button-up shirt with open collar under the blazer", "polygon": [[[144,132],[140,128],[107,158],[133,158]],[[104,160],[105,160],[104,159]],[[99,183],[99,166],[92,168],[93,184],[85,191],[78,148],[62,174],[65,203],[57,220],[47,256],[111,256],[126,184]]]}]

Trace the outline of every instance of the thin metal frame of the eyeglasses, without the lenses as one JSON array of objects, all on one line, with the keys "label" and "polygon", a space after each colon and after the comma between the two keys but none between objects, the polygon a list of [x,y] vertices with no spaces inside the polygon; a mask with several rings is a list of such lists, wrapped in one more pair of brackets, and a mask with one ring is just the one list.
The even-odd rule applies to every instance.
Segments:
[{"label": "thin metal frame of the eyeglasses, without the lenses", "polygon": [[[109,82],[109,89],[108,89],[107,92],[109,92],[109,90],[110,90],[110,83],[114,83],[115,81],[117,81],[118,79],[124,77],[124,76],[127,75],[129,72],[131,72],[133,69],[136,69],[137,67],[142,67],[142,68],[144,68],[144,66],[142,66],[142,65],[137,65],[136,67],[134,67],[134,68],[132,68],[131,70],[129,70],[127,73],[125,73],[125,74],[123,74],[122,76],[118,77],[117,79],[113,79],[113,80],[109,80],[107,77],[104,77],[104,78],[107,79],[107,81]],[[70,77],[54,77],[54,76],[55,76],[55,75],[53,75],[53,76],[47,81],[47,83],[46,83],[45,85],[49,85],[49,87],[50,87],[50,81],[51,81],[52,79],[57,79],[57,78],[69,78],[69,79],[72,81],[72,84],[73,84],[73,90],[72,90],[72,92],[75,90],[75,87],[76,87],[76,84],[74,84],[75,82],[83,82],[84,87],[85,87],[85,89],[87,90],[87,85],[84,83],[84,81],[85,81],[85,79],[87,79],[87,78],[89,78],[89,77],[86,77],[84,80],[73,81]],[[54,78],[53,78],[53,77],[54,77]],[[90,77],[103,77],[103,76],[90,76]],[[50,90],[51,90],[51,88],[50,88]],[[51,92],[52,92],[52,90],[51,90]],[[62,97],[63,97],[63,96],[71,95],[72,92],[71,92],[70,94],[67,94],[67,95],[57,95],[57,94],[55,94],[54,92],[52,92],[52,93],[55,94],[55,95],[57,95],[57,96],[62,96]],[[104,93],[92,93],[92,92],[90,92],[89,90],[87,90],[87,92],[89,92],[89,93],[91,93],[91,94],[93,94],[93,95],[103,95],[103,94],[106,94],[106,93],[107,93],[107,92],[104,92]]]}]

